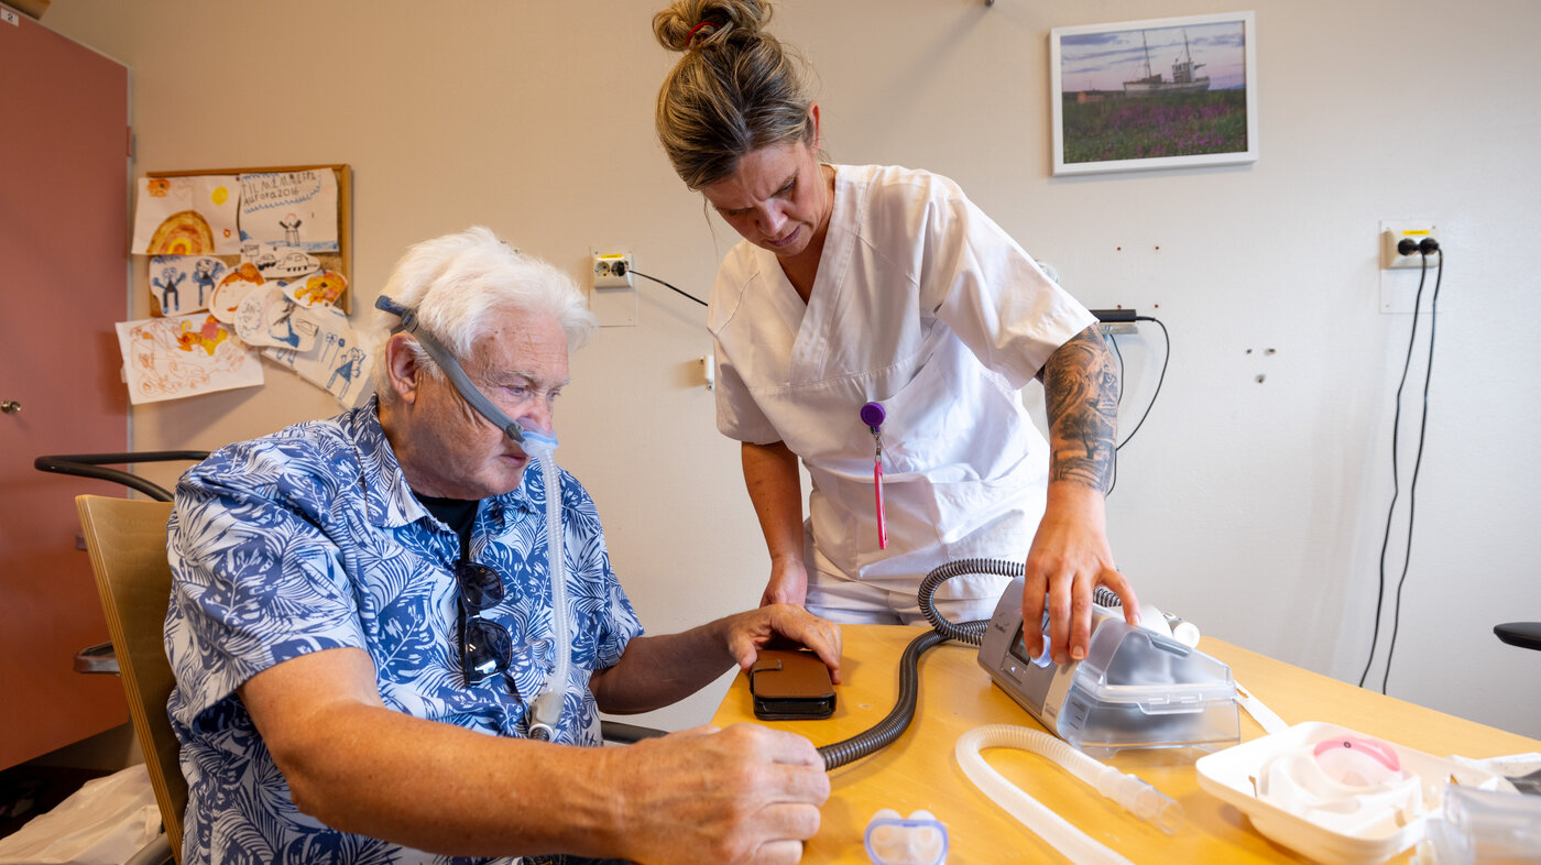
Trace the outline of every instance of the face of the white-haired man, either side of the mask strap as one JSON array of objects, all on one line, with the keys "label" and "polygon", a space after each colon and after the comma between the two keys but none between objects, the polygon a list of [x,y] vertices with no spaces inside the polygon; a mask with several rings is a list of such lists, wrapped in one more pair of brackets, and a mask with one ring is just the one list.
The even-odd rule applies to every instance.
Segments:
[{"label": "face of the white-haired man, either side of the mask strap", "polygon": [[[519,426],[552,432],[556,395],[567,384],[567,336],[553,316],[495,313],[461,365]],[[519,486],[529,456],[476,413],[448,378],[419,373],[408,401],[405,436],[393,436],[391,444],[415,492],[476,500]]]}]

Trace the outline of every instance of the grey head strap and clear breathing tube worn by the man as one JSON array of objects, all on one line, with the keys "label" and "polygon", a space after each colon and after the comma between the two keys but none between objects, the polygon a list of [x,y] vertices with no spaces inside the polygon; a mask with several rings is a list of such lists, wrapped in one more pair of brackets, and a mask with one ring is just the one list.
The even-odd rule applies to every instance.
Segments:
[{"label": "grey head strap and clear breathing tube worn by the man", "polygon": [[509,438],[519,443],[525,453],[541,464],[541,480],[546,481],[546,552],[550,557],[547,570],[552,577],[552,651],[556,654],[556,665],[546,689],[530,706],[530,739],[550,742],[556,737],[556,726],[562,717],[562,700],[567,694],[567,680],[572,672],[572,629],[567,623],[567,535],[562,532],[562,493],[561,476],[556,469],[556,436],[519,426],[518,421],[504,413],[492,399],[482,393],[461,369],[461,362],[444,347],[442,342],[427,327],[421,327],[418,310],[398,304],[385,295],[374,299],[374,308],[384,310],[401,319],[391,333],[411,333],[422,345],[422,350],[439,364],[445,378],[455,385],[461,399],[487,418],[487,422],[498,427]]}]

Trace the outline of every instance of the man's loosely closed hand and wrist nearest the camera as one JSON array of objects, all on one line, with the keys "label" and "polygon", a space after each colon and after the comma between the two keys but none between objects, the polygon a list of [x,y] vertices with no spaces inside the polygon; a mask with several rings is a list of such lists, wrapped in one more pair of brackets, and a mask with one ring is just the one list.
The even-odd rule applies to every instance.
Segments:
[{"label": "man's loosely closed hand and wrist nearest the camera", "polygon": [[619,846],[638,862],[792,863],[829,799],[814,745],[764,726],[700,726],[603,751],[624,811]]}]

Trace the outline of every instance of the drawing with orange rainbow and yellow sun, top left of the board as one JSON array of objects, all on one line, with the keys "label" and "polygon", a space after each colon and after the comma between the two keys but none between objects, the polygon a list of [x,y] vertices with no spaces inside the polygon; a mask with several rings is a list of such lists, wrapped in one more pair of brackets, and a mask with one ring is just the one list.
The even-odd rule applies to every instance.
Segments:
[{"label": "drawing with orange rainbow and yellow sun, top left of the board", "polygon": [[237,179],[227,174],[140,177],[134,244],[149,256],[236,254]]}]

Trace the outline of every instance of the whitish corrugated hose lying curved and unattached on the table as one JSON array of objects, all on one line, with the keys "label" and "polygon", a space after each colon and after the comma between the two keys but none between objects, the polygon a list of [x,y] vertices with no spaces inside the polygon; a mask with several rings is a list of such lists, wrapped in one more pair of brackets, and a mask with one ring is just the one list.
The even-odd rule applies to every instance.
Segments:
[{"label": "whitish corrugated hose lying curved and unattached on the table", "polygon": [[1069,774],[1097,788],[1097,793],[1123,805],[1134,816],[1154,823],[1167,834],[1176,833],[1182,826],[1182,805],[1170,796],[1136,776],[1120,772],[1082,754],[1040,729],[991,723],[960,735],[954,754],[963,774],[974,782],[974,786],[1073,862],[1128,865],[1130,860],[1093,840],[1091,836],[1006,780],[980,756],[985,748],[1031,751],[1059,763]]}]

